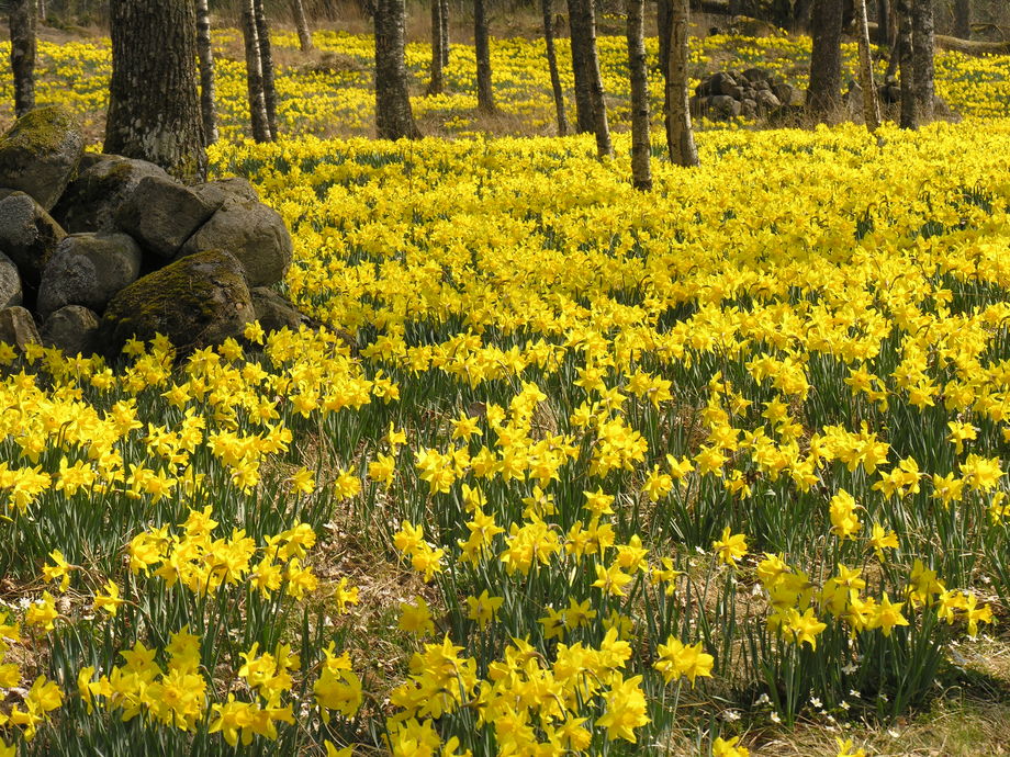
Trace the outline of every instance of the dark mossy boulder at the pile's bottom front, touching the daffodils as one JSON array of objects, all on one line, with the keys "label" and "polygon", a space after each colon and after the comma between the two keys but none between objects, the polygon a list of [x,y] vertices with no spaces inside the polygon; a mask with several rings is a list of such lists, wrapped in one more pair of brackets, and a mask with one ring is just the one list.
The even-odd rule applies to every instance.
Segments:
[{"label": "dark mossy boulder at the pile's bottom front, touching the daffodils", "polygon": [[100,324],[103,349],[119,353],[131,337],[161,334],[182,352],[242,336],[256,317],[238,259],[206,250],[180,258],[116,294]]}]

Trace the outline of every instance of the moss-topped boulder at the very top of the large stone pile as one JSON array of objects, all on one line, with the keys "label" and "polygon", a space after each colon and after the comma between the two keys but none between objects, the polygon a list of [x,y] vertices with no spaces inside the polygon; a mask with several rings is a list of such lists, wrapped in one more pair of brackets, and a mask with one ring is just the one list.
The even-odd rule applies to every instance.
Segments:
[{"label": "moss-topped boulder at the very top of the large stone pile", "polygon": [[46,211],[63,194],[85,150],[85,136],[63,105],[36,108],[0,137],[0,187],[26,192]]}]

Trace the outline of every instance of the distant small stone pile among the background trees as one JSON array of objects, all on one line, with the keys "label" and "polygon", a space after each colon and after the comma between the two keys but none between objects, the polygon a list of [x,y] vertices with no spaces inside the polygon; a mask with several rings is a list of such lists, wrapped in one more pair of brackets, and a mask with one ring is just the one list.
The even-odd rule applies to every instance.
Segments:
[{"label": "distant small stone pile among the background trees", "polygon": [[709,121],[777,116],[803,104],[801,90],[762,68],[712,74],[695,88],[689,103],[693,117]]}]

